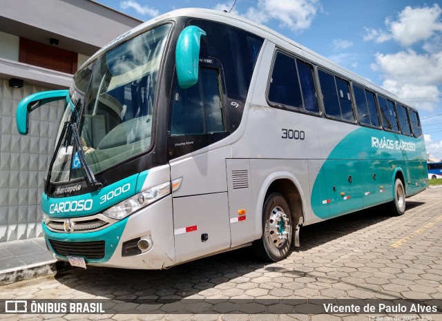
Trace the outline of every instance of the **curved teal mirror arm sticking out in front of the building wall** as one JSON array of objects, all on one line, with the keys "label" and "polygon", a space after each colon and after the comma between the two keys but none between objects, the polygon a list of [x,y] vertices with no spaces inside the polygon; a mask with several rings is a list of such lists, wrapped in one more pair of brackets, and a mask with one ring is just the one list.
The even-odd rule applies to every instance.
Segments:
[{"label": "curved teal mirror arm sticking out in front of the building wall", "polygon": [[68,99],[69,90],[50,90],[30,95],[19,102],[17,106],[17,130],[21,135],[28,135],[29,114],[52,101]]}]

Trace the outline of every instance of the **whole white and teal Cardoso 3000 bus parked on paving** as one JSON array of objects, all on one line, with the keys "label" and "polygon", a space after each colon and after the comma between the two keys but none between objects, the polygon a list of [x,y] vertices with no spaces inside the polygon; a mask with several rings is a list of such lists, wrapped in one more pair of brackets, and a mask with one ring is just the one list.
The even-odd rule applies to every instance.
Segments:
[{"label": "whole white and teal Cardoso 3000 bus parked on paving", "polygon": [[270,261],[300,226],[427,187],[419,115],[265,26],[176,10],[99,50],[70,90],[46,177],[48,248],[72,264],[164,269],[252,246]]}]

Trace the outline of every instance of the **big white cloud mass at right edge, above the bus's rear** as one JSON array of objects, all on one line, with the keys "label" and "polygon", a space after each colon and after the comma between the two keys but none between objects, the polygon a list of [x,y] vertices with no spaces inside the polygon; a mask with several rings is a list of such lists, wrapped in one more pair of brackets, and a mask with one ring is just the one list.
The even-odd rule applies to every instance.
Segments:
[{"label": "big white cloud mass at right edge, above the bus's rear", "polygon": [[[376,53],[372,69],[381,73],[383,87],[410,104],[432,112],[441,96],[442,84],[442,9],[432,7],[405,7],[396,20],[385,19],[387,30],[365,28],[364,40],[381,43],[394,39],[408,49],[396,53]],[[412,50],[412,46],[416,50]],[[427,53],[417,53],[427,52]]]}]

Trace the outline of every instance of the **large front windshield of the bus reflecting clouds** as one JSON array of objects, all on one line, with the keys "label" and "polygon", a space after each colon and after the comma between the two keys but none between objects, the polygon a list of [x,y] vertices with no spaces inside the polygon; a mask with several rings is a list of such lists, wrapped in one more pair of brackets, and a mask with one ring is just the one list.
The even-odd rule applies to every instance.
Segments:
[{"label": "large front windshield of the bus reflecting clouds", "polygon": [[[164,24],[105,52],[81,68],[69,91],[70,108],[63,121],[73,119],[79,128],[86,162],[93,173],[123,162],[151,146],[152,116],[158,72],[166,39]],[[81,108],[77,108],[81,106]],[[81,110],[81,115],[75,115]],[[51,182],[84,176],[67,131],[51,172]]]}]

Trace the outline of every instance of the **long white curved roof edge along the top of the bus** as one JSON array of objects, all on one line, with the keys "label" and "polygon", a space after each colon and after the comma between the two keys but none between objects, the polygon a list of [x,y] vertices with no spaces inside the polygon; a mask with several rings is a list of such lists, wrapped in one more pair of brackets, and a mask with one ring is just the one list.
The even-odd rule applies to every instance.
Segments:
[{"label": "long white curved roof edge along the top of the bus", "polygon": [[[88,59],[88,61],[95,59],[104,50],[107,50],[111,46],[115,46],[115,44],[119,42],[125,41],[128,37],[131,37],[131,35],[140,32],[140,30],[148,28],[149,26],[158,23],[159,21],[162,20],[166,21],[167,19],[175,17],[192,17],[192,18],[207,19],[211,21],[226,23],[229,24],[230,26],[235,26],[237,28],[247,30],[264,39],[268,39],[269,41],[275,43],[276,46],[284,50],[301,55],[308,61],[311,61],[312,63],[317,64],[318,66],[332,70],[338,73],[339,75],[343,75],[344,77],[347,77],[352,81],[355,81],[358,84],[361,84],[369,89],[376,90],[376,92],[386,95],[387,97],[391,97],[392,99],[400,102],[401,104],[410,106],[406,101],[403,101],[403,99],[401,99],[400,97],[397,97],[393,93],[390,93],[387,90],[377,86],[376,84],[373,84],[368,79],[365,79],[357,75],[355,72],[352,72],[351,70],[348,70],[343,66],[339,66],[333,61],[330,61],[329,59],[323,57],[322,55],[319,55],[317,52],[314,52],[313,50],[310,50],[309,48],[300,45],[300,43],[297,43],[296,41],[281,35],[280,33],[276,32],[275,30],[272,30],[267,26],[263,26],[260,23],[256,23],[244,17],[240,17],[236,14],[230,14],[218,10],[210,10],[202,8],[185,8],[185,9],[178,9],[178,10],[173,10],[171,12],[167,12],[165,14],[162,14],[158,17],[155,17],[151,20],[144,22],[140,24],[140,26],[137,26],[132,30],[129,30],[128,32],[124,33],[123,35],[117,37],[116,39],[108,43],[106,46],[104,46],[102,49],[100,49],[98,52],[96,52],[95,55],[93,55],[92,57],[90,57],[90,59]],[[88,61],[86,61],[86,63],[88,63]]]}]

